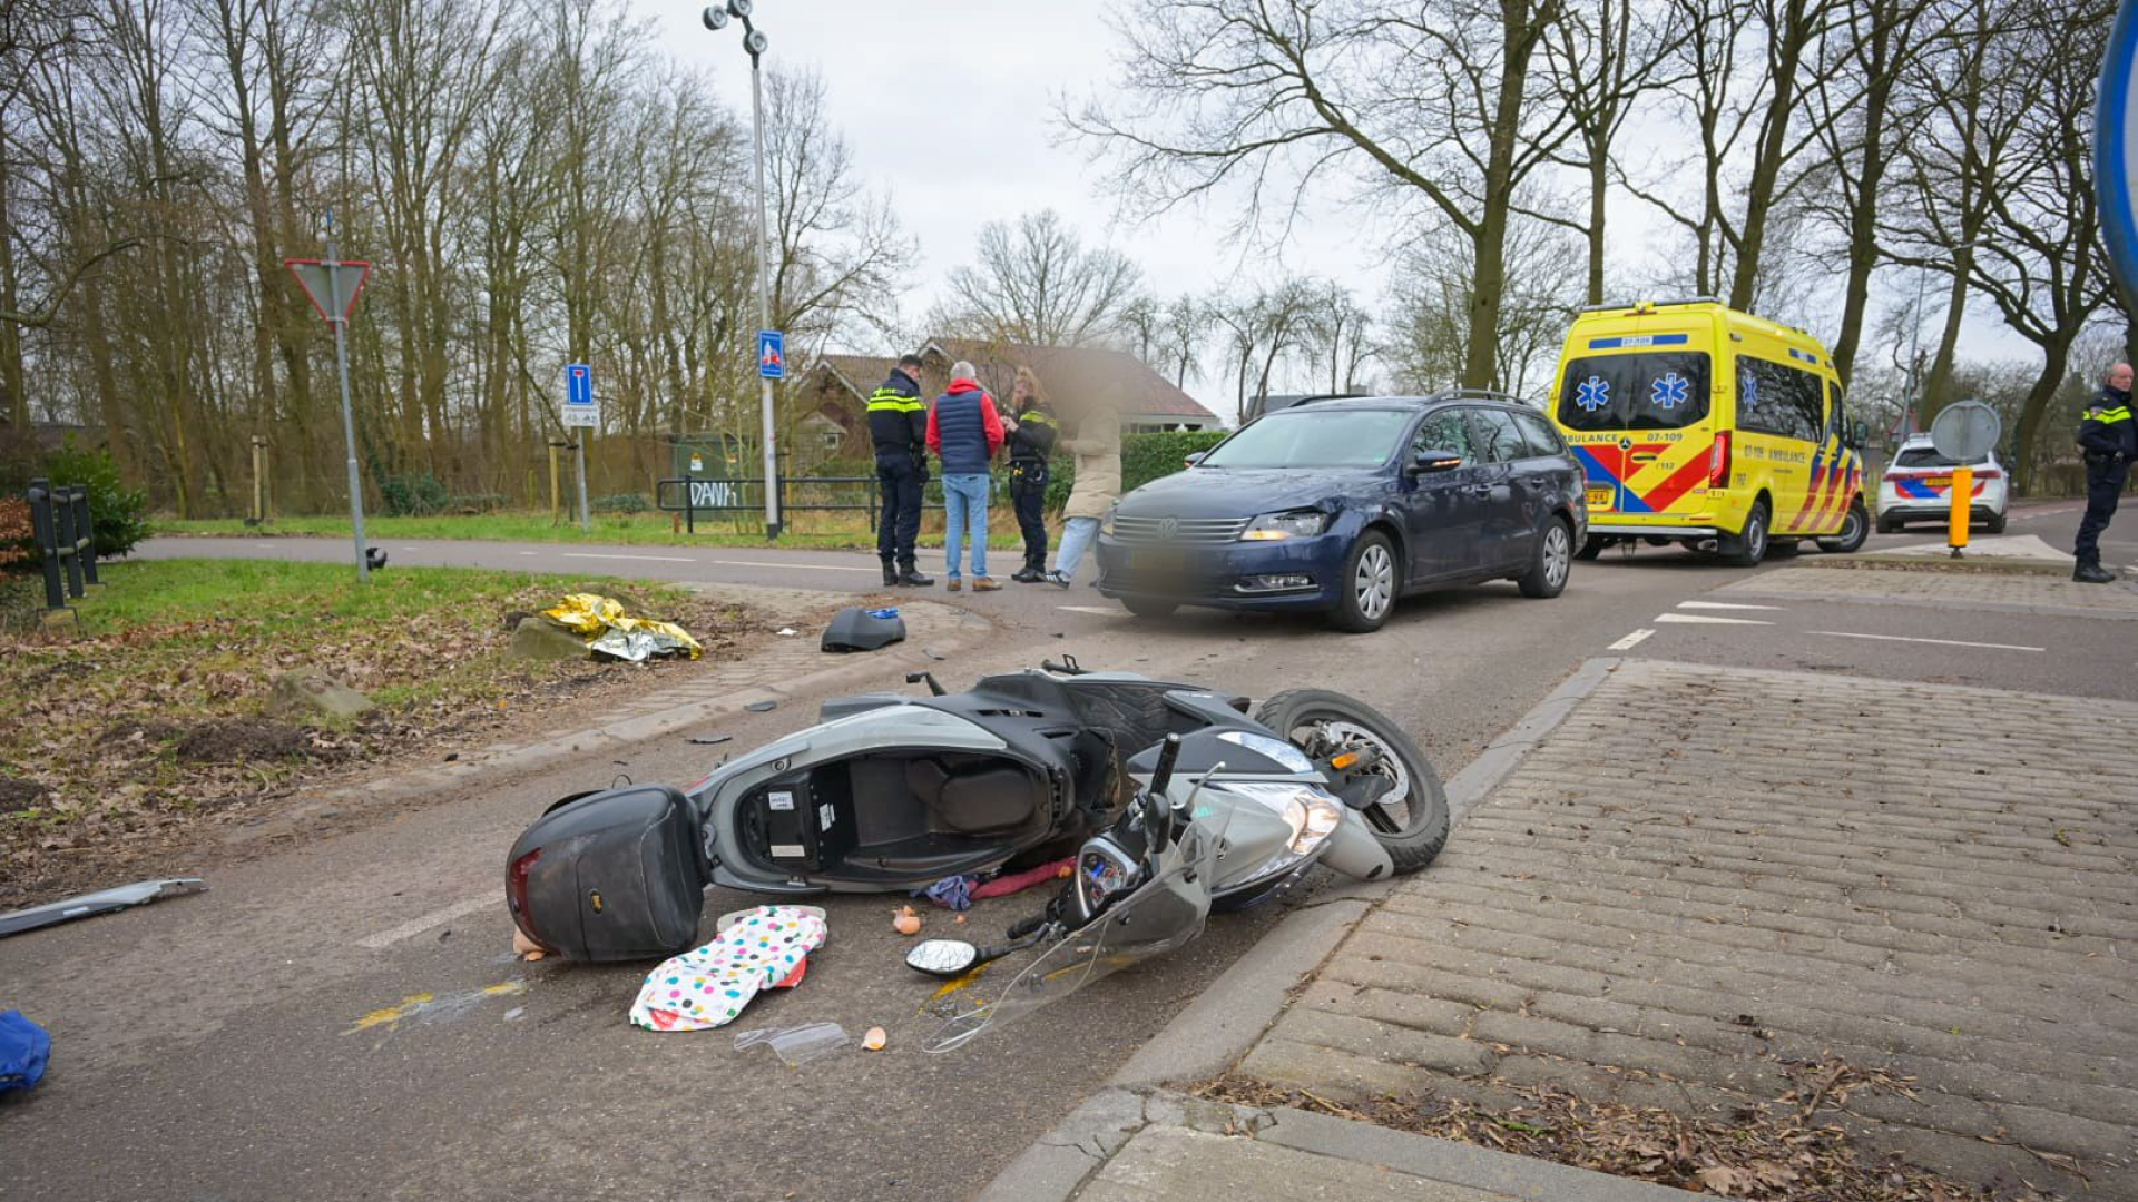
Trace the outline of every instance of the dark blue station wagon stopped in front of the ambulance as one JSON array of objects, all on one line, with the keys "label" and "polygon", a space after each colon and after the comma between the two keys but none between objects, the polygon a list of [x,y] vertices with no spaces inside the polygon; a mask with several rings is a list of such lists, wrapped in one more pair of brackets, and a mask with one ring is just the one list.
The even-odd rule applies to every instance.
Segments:
[{"label": "dark blue station wagon stopped in front of the ambulance", "polygon": [[1099,590],[1140,616],[1313,610],[1364,633],[1445,584],[1556,597],[1586,535],[1582,468],[1539,411],[1486,391],[1323,398],[1122,496]]}]

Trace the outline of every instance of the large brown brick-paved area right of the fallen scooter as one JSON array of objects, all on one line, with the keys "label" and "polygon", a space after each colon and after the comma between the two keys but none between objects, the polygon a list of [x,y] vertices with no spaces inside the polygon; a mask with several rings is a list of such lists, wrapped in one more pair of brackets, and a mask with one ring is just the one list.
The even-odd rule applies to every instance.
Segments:
[{"label": "large brown brick-paved area right of the fallen scooter", "polygon": [[1914,1078],[1822,1112],[1869,1151],[2138,1198],[2134,798],[2132,704],[1629,661],[1240,1074],[1728,1116],[1847,1063]]}]

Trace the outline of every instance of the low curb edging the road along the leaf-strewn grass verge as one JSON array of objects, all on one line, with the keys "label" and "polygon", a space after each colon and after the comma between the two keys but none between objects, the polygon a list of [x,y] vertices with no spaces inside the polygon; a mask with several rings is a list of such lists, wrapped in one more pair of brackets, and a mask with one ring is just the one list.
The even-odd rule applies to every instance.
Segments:
[{"label": "low curb edging the road along the leaf-strewn grass verge", "polygon": [[[451,764],[436,764],[430,768],[415,768],[408,772],[398,772],[393,776],[381,776],[374,781],[357,781],[348,785],[334,785],[327,789],[312,791],[304,802],[286,806],[282,813],[261,821],[259,826],[244,826],[224,832],[222,843],[242,845],[259,838],[274,838],[280,834],[295,834],[306,830],[314,821],[338,817],[348,808],[363,808],[378,802],[406,802],[434,793],[449,787],[466,787],[481,781],[505,781],[513,776],[524,776],[543,768],[552,768],[573,757],[603,755],[622,751],[631,744],[671,736],[710,719],[725,714],[740,714],[750,704],[757,702],[785,702],[797,695],[808,695],[819,689],[840,689],[847,684],[857,684],[879,676],[887,663],[904,665],[907,669],[919,672],[934,665],[945,652],[962,650],[975,637],[983,637],[994,622],[973,614],[971,610],[960,610],[956,605],[945,605],[956,614],[956,633],[949,637],[936,637],[926,650],[915,639],[896,644],[892,648],[859,654],[859,657],[836,657],[842,663],[836,667],[825,667],[821,672],[810,672],[804,676],[787,678],[778,684],[757,684],[738,687],[716,699],[706,702],[682,702],[678,706],[667,706],[663,710],[639,712],[626,719],[603,723],[599,727],[579,729],[573,734],[560,734],[543,738],[530,744],[507,746],[498,751],[475,751],[462,755]],[[936,654],[930,654],[936,652]],[[746,663],[746,659],[744,659]]]}]

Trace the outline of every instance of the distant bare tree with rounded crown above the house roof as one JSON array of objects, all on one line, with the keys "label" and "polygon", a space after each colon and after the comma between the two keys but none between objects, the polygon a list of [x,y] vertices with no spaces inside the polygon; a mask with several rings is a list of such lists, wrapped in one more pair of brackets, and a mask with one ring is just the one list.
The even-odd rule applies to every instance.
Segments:
[{"label": "distant bare tree with rounded crown above the house roof", "polygon": [[1054,210],[979,229],[979,261],[949,274],[966,329],[1007,342],[1075,346],[1107,338],[1142,287],[1125,255],[1086,248]]}]

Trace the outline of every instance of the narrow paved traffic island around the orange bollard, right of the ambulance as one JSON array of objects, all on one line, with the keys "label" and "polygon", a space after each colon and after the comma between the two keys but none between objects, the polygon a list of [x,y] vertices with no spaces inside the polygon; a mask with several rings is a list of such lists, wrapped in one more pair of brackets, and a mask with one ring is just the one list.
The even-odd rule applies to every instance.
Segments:
[{"label": "narrow paved traffic island around the orange bollard, right of the ambulance", "polygon": [[1826,601],[1905,601],[1995,607],[2042,614],[2138,618],[2138,588],[2129,584],[2074,584],[2044,573],[1924,571],[1881,567],[1785,567],[1762,571],[1721,590],[1757,597],[1819,597]]}]

